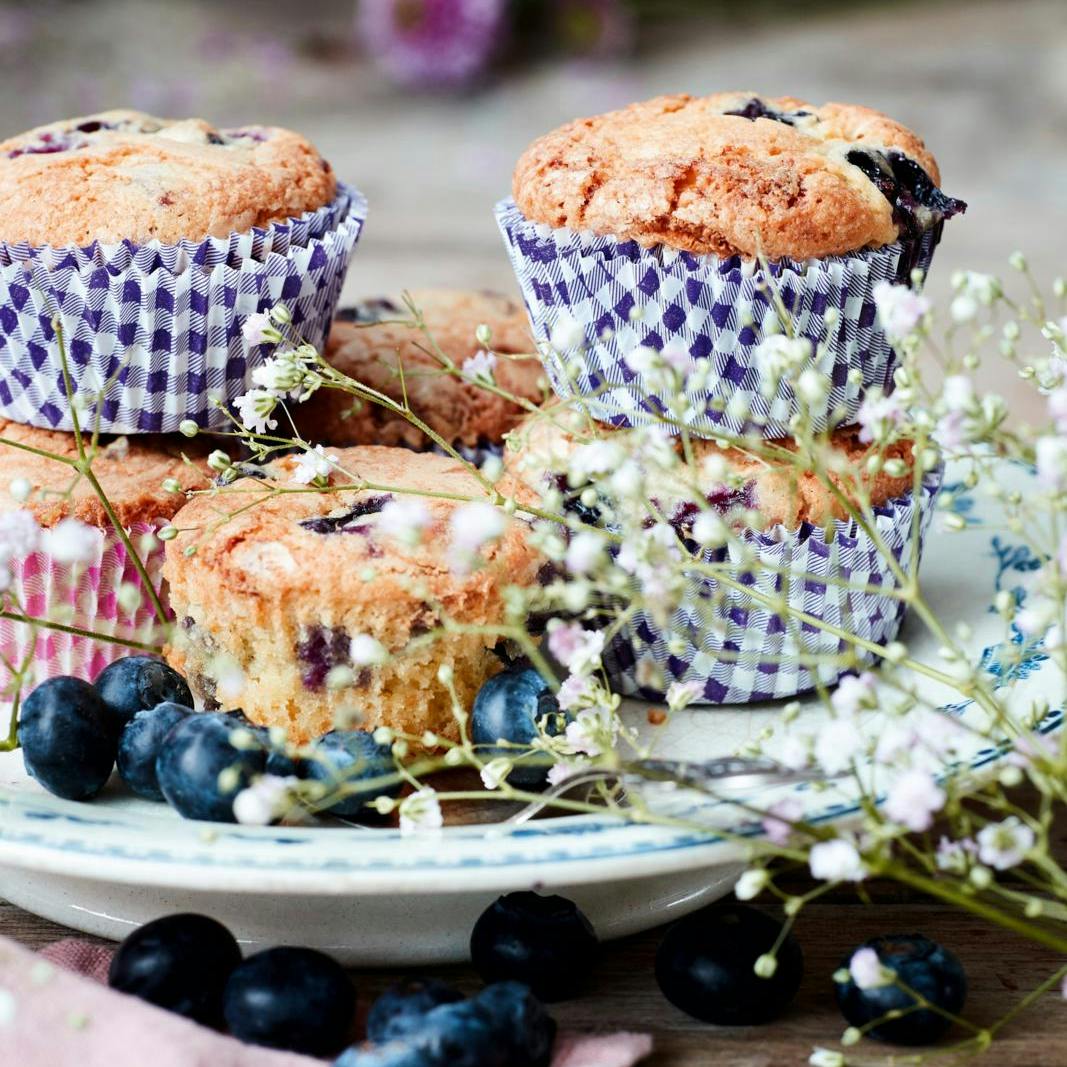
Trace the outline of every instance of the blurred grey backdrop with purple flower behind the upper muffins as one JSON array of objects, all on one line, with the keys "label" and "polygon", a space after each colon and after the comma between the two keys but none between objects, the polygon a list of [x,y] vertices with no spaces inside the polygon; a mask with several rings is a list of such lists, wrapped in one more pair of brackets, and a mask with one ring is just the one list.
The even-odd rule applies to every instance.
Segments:
[{"label": "blurred grey backdrop with purple flower behind the upper muffins", "polygon": [[1067,273],[1065,0],[30,0],[0,3],[0,71],[3,136],[125,106],[300,129],[370,201],[353,298],[512,290],[492,208],[534,137],[722,89],[918,130],[970,204],[935,294],[1016,249]]}]

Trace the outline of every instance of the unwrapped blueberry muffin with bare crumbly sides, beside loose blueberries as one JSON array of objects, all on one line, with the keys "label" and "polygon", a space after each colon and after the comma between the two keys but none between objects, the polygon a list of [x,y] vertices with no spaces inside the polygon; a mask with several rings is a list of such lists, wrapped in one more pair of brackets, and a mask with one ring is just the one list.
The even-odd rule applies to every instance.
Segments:
[{"label": "unwrapped blueberry muffin with bare crumbly sides, beside loose blueberries", "polygon": [[[439,672],[451,672],[468,708],[499,669],[497,638],[431,632],[446,620],[503,622],[504,587],[536,579],[525,526],[512,521],[482,566],[458,569],[450,523],[461,504],[418,494],[484,501],[461,464],[399,448],[334,455],[330,492],[273,493],[292,487],[298,460],[286,458],[178,513],[182,532],[168,543],[164,567],[178,618],[168,658],[206,706],[239,706],[294,740],[353,721],[455,737]],[[387,488],[341,488],[352,477]],[[417,544],[391,532],[400,501],[425,509]]]}]

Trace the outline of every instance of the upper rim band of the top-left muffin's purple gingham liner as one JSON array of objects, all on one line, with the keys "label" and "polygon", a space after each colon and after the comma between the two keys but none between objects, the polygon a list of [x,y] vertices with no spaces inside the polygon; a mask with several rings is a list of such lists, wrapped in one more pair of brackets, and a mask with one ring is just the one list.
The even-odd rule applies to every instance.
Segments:
[{"label": "upper rim band of the top-left muffin's purple gingham liner", "polygon": [[353,186],[338,182],[337,194],[329,204],[244,233],[204,237],[195,241],[182,239],[174,244],[159,241],[101,244],[94,241],[84,248],[0,241],[0,267],[39,260],[49,270],[127,270],[132,266],[143,273],[168,270],[172,274],[191,267],[211,268],[219,264],[238,267],[245,259],[262,260],[271,254],[287,255],[290,249],[306,248],[309,241],[322,238],[345,220],[363,221],[366,217],[367,201],[363,193]]}]

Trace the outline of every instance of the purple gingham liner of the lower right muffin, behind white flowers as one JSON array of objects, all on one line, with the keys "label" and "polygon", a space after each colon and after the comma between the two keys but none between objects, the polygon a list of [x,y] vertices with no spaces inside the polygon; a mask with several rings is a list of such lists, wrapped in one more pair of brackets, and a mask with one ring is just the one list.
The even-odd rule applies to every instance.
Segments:
[{"label": "purple gingham liner of the lower right muffin, behind white flowers", "polygon": [[[923,479],[918,500],[908,494],[874,509],[878,536],[905,567],[913,539],[922,551],[941,474]],[[795,530],[750,530],[744,542],[755,554],[754,564],[742,561],[737,544],[708,553],[705,560],[737,562],[731,572],[736,580],[762,596],[784,594],[793,611],[839,631],[877,643],[896,637],[905,605],[879,591],[895,589],[895,576],[854,521],[835,522],[829,541],[821,527],[805,524]],[[604,667],[612,687],[626,696],[664,700],[672,682],[691,682],[700,686],[697,704],[746,704],[832,685],[846,668],[814,666],[811,657],[840,656],[853,648],[813,622],[783,618],[746,592],[691,575],[669,633],[647,615],[638,616],[609,642]],[[859,654],[866,663],[875,658]]]}]

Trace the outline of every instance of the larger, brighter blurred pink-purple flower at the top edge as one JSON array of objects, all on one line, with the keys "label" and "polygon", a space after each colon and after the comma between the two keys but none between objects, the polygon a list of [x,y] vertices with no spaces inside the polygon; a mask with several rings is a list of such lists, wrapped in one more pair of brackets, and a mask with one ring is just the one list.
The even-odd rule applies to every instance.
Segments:
[{"label": "larger, brighter blurred pink-purple flower at the top edge", "polygon": [[457,89],[484,73],[508,28],[507,0],[361,0],[356,31],[394,81]]}]

